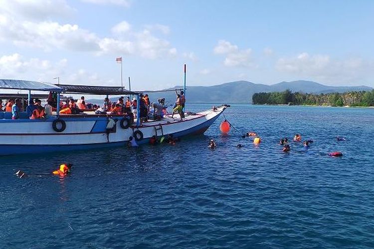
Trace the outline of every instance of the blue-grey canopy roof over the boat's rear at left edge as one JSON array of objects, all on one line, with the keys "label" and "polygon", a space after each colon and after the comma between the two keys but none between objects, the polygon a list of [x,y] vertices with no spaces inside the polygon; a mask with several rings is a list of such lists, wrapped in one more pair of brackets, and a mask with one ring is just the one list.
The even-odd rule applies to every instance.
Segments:
[{"label": "blue-grey canopy roof over the boat's rear at left edge", "polygon": [[56,85],[37,82],[37,81],[28,81],[28,80],[5,80],[0,79],[0,88],[2,89],[18,89],[18,90],[32,90],[32,91],[52,91],[60,93],[62,88],[57,87]]}]

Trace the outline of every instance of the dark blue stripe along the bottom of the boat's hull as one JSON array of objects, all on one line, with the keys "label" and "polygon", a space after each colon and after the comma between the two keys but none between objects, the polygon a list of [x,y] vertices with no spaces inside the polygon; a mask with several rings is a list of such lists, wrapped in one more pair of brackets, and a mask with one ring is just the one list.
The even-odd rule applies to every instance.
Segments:
[{"label": "dark blue stripe along the bottom of the boat's hull", "polygon": [[[220,116],[208,120],[202,124],[196,125],[192,128],[173,133],[175,137],[182,137],[187,135],[193,135],[196,133],[203,133],[217,118]],[[149,138],[145,138],[139,141],[138,144],[149,143]],[[98,149],[108,148],[115,146],[125,146],[127,141],[123,142],[110,142],[110,143],[95,143],[95,144],[66,144],[66,145],[0,145],[0,155],[14,155],[14,154],[27,154],[27,153],[45,153],[45,152],[58,152],[58,151],[72,151],[72,150],[86,150],[86,149]],[[9,153],[7,153],[9,151]]]}]

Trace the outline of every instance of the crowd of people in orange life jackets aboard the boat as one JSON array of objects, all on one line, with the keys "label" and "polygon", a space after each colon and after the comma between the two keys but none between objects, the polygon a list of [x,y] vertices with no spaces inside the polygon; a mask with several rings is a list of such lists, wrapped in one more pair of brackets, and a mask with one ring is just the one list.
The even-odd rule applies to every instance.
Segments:
[{"label": "crowd of people in orange life jackets aboard the boat", "polygon": [[[175,114],[179,114],[181,121],[184,119],[184,108],[186,98],[183,91],[178,93],[176,91],[177,100],[173,108],[172,118]],[[82,114],[84,112],[93,111],[95,114],[105,115],[119,115],[119,116],[131,116],[133,119],[137,118],[137,99],[130,97],[120,97],[116,102],[111,102],[109,98],[104,99],[102,107],[100,105],[86,103],[85,97],[82,96],[78,100],[68,98],[65,102],[60,101],[59,114]],[[4,104],[0,100],[0,111],[11,112],[12,119],[19,119],[20,112],[26,112],[29,119],[43,119],[48,115],[52,115],[52,112],[57,111],[57,96],[55,93],[50,93],[47,99],[47,103],[42,107],[41,101],[35,99],[31,103],[27,104],[27,101],[21,102],[20,99],[10,99]],[[147,122],[150,119],[160,121],[165,115],[169,114],[167,106],[165,105],[165,98],[160,98],[157,102],[151,102],[148,94],[140,94],[140,120],[141,123]]]}]

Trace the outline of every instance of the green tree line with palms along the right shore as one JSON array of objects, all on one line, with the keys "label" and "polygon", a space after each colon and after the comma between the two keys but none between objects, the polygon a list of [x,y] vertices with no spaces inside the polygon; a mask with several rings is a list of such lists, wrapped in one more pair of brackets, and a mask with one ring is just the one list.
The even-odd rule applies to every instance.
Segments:
[{"label": "green tree line with palms along the right shore", "polygon": [[255,93],[252,96],[254,105],[312,105],[312,106],[374,106],[374,90],[353,91],[345,93],[307,94],[293,93],[290,90],[272,93]]}]

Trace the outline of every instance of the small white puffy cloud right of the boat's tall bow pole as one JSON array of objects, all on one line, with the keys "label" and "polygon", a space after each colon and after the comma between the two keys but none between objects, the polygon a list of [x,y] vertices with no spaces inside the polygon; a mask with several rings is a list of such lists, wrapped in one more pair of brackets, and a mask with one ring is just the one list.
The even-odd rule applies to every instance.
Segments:
[{"label": "small white puffy cloud right of the boat's tall bow pole", "polygon": [[220,40],[213,49],[215,54],[225,55],[224,65],[228,67],[255,67],[251,60],[252,50],[250,48],[240,50],[238,46],[228,41]]}]

